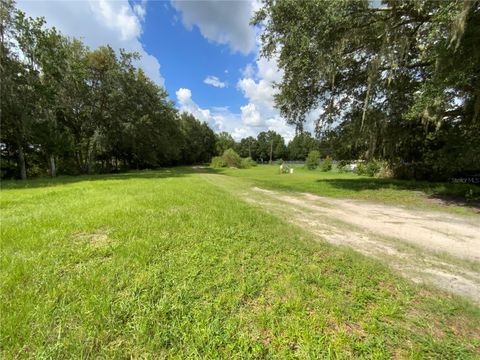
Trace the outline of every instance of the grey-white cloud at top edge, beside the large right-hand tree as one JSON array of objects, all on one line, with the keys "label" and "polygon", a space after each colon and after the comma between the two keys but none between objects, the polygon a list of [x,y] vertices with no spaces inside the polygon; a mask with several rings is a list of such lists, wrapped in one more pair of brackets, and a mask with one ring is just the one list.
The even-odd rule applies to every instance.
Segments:
[{"label": "grey-white cloud at top edge, beside the large right-hand tree", "polygon": [[187,29],[197,26],[203,37],[228,44],[233,51],[255,50],[255,29],[249,25],[254,11],[251,1],[172,0],[172,6],[182,14]]}]

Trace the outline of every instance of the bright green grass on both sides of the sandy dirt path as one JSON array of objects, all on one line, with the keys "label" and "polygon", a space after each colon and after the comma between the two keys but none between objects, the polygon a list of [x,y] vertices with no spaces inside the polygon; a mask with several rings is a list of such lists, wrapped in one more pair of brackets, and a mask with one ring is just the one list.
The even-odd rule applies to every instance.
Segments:
[{"label": "bright green grass on both sides of the sandy dirt path", "polygon": [[[352,175],[271,170],[226,173],[423,203],[335,185]],[[478,307],[315,241],[198,169],[10,182],[0,195],[2,359],[480,356]]]}]

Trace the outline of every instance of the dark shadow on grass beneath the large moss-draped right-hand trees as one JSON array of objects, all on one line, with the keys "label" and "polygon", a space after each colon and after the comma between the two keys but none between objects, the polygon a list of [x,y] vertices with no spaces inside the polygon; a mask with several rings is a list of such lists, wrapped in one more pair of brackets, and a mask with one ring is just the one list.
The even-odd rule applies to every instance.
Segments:
[{"label": "dark shadow on grass beneath the large moss-draped right-hand trees", "polygon": [[468,206],[480,209],[480,187],[475,185],[364,177],[358,179],[319,179],[317,182],[350,191],[382,189],[416,191],[443,205]]}]

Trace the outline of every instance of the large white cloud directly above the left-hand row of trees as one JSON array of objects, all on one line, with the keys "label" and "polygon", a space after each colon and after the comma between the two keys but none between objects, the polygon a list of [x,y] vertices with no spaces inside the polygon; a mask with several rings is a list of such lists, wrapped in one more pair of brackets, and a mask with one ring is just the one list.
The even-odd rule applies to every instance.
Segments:
[{"label": "large white cloud directly above the left-hand row of trees", "polygon": [[28,16],[43,16],[47,26],[55,26],[63,34],[81,38],[86,45],[96,48],[110,45],[138,52],[141,60],[135,65],[157,84],[163,85],[160,63],[148,54],[142,43],[142,21],[146,15],[145,2],[132,6],[128,0],[119,1],[27,1],[17,3]]}]

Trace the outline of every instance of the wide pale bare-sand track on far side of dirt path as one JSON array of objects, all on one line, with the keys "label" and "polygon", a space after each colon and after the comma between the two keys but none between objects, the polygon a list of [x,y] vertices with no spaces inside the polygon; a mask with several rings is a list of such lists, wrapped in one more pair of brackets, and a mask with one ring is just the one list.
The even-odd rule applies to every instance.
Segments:
[{"label": "wide pale bare-sand track on far side of dirt path", "polygon": [[394,237],[432,252],[444,252],[461,259],[480,262],[480,224],[474,224],[460,216],[412,211],[306,193],[289,196],[259,188],[253,190],[381,236]]}]

